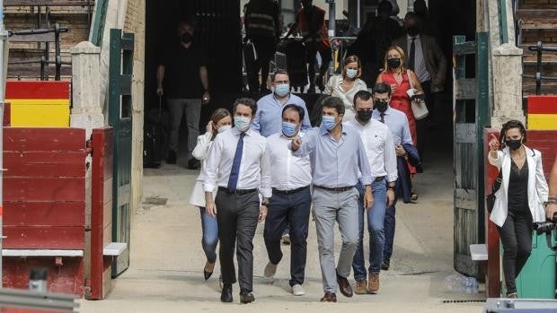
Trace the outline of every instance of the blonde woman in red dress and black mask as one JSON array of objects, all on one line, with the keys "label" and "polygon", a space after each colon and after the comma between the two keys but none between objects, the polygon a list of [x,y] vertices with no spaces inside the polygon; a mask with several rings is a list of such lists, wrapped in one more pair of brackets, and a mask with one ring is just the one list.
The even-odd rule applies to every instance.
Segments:
[{"label": "blonde woman in red dress and black mask", "polygon": [[[417,95],[423,94],[420,80],[414,72],[406,68],[406,57],[404,51],[398,46],[387,49],[385,54],[385,65],[383,71],[377,76],[377,83],[388,83],[391,85],[392,96],[391,108],[404,112],[408,118],[410,133],[414,145],[418,145],[418,135],[416,133],[416,119],[411,108],[411,99],[407,91],[411,85],[418,90]],[[383,113],[383,112],[381,112]]]}]

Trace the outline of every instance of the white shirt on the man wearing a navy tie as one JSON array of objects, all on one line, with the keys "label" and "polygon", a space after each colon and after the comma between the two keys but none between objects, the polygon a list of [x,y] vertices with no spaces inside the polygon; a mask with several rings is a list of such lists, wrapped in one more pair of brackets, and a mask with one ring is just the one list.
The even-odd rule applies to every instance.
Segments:
[{"label": "white shirt on the man wearing a navy tie", "polygon": [[[212,192],[216,187],[228,186],[240,134],[234,127],[217,135],[213,141],[205,163],[203,187],[206,192]],[[265,153],[266,142],[265,137],[252,129],[243,136],[242,161],[236,189],[259,188],[261,196],[271,196],[270,163],[269,156]]]}]

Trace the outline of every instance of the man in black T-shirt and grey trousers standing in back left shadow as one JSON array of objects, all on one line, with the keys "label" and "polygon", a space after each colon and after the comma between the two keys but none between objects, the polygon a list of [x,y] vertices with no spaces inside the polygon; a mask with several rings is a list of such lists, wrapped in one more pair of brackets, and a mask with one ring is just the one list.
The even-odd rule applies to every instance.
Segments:
[{"label": "man in black T-shirt and grey trousers standing in back left shadow", "polygon": [[191,156],[199,136],[201,104],[210,101],[208,74],[205,55],[193,42],[195,22],[184,20],[178,23],[177,35],[180,44],[168,49],[164,62],[156,71],[159,96],[166,96],[171,113],[168,164],[175,164],[178,153],[181,118],[185,115],[188,124],[188,169],[199,170],[200,163]]}]

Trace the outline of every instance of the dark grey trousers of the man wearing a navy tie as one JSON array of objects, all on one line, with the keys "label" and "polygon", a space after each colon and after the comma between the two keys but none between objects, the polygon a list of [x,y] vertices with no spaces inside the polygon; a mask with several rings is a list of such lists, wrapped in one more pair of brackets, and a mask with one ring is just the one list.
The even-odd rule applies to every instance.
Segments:
[{"label": "dark grey trousers of the man wearing a navy tie", "polygon": [[236,283],[235,245],[240,290],[251,292],[253,291],[253,237],[259,219],[259,196],[257,192],[235,195],[218,190],[215,204],[220,241],[218,258],[223,283]]}]

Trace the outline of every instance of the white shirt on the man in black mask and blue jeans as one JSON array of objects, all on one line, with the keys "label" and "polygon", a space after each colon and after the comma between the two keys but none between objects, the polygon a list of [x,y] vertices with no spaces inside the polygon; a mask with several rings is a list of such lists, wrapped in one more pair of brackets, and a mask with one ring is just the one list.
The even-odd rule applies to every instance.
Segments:
[{"label": "white shirt on the man in black mask and blue jeans", "polygon": [[373,118],[366,125],[359,123],[356,118],[350,119],[344,125],[358,130],[366,149],[371,176],[385,177],[389,183],[396,181],[398,177],[396,152],[394,152],[393,135],[389,127]]}]

